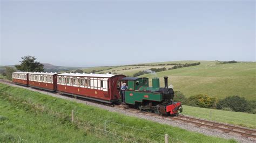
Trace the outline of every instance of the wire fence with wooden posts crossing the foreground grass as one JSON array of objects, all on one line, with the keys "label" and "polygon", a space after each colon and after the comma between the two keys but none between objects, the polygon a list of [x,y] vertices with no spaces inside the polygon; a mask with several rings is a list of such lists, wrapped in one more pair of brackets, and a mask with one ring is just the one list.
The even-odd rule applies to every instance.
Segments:
[{"label": "wire fence with wooden posts crossing the foreground grass", "polygon": [[[4,92],[11,95],[10,92]],[[18,97],[17,97],[18,98]],[[21,99],[21,100],[24,100]],[[149,130],[149,128],[140,129],[134,126],[117,123],[111,119],[103,119],[102,117],[96,117],[86,114],[86,111],[77,112],[71,110],[72,107],[64,109],[49,104],[33,103],[31,98],[25,98],[23,104],[33,106],[39,112],[46,112],[55,115],[57,118],[69,118],[69,121],[79,128],[83,128],[87,133],[95,133],[100,137],[114,139],[120,142],[185,142],[171,137],[169,134],[155,133]],[[150,128],[152,130],[152,128]]]}]

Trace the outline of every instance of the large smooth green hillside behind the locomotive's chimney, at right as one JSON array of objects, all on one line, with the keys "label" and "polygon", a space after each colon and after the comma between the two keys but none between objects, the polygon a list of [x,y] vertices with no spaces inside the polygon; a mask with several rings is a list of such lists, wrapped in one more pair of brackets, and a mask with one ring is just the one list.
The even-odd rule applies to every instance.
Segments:
[{"label": "large smooth green hillside behind the locomotive's chimney, at right", "polygon": [[164,85],[164,76],[169,77],[169,84],[174,90],[183,92],[187,97],[197,94],[224,98],[239,95],[247,99],[256,99],[256,62],[239,62],[215,65],[214,61],[200,61],[201,65],[172,69],[145,74],[141,77],[160,77]]}]

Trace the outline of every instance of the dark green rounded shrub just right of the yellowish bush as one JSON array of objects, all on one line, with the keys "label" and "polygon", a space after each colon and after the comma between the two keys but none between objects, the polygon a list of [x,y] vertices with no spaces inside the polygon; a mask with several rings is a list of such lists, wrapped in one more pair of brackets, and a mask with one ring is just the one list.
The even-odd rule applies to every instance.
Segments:
[{"label": "dark green rounded shrub just right of the yellowish bush", "polygon": [[[251,103],[253,106],[254,104]],[[251,111],[250,104],[246,101],[244,97],[240,96],[229,96],[220,100],[217,104],[217,109],[231,108],[236,112]]]}]

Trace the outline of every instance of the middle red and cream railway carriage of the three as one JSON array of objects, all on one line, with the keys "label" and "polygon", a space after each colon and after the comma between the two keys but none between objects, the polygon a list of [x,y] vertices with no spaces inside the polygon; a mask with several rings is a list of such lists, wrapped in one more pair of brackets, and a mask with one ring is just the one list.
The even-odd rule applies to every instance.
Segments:
[{"label": "middle red and cream railway carriage of the three", "polygon": [[29,85],[33,88],[56,91],[57,74],[59,73],[29,73]]}]

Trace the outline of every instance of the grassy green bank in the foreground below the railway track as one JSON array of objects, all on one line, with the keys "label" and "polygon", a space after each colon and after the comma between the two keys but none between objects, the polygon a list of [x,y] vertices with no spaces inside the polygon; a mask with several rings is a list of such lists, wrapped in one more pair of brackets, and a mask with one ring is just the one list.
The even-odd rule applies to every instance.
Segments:
[{"label": "grassy green bank in the foreground below the railway track", "polygon": [[[127,142],[119,137],[137,142],[163,142],[161,135],[165,133],[170,135],[172,142],[234,142],[2,83],[0,91],[2,142]],[[76,111],[74,124],[70,122],[71,109]],[[91,127],[104,128],[104,132],[114,134],[91,130]]]}]

